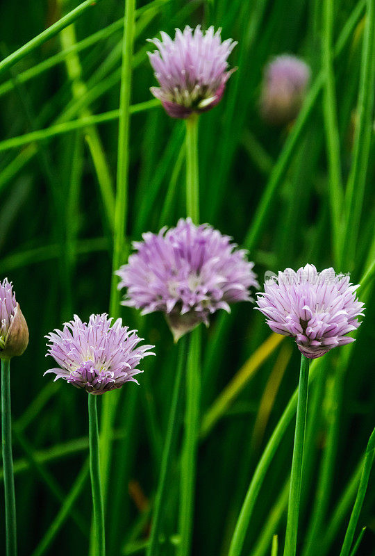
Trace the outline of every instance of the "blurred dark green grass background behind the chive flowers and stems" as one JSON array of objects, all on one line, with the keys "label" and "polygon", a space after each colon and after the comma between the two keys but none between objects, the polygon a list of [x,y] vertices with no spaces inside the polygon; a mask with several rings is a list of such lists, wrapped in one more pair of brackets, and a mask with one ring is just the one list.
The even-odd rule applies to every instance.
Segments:
[{"label": "blurred dark green grass background behind the chive flowers and stems", "polygon": [[[367,8],[371,4],[367,1]],[[76,5],[64,0],[3,3],[2,57]],[[133,105],[152,98],[149,87],[156,82],[146,53],[153,47],[146,39],[160,30],[174,33],[174,28],[185,24],[202,24],[203,28],[213,24],[222,27],[223,39],[239,43],[229,60],[238,70],[228,81],[224,99],[200,120],[201,220],[250,247],[249,258],[256,263],[260,284],[267,270],[297,269],[306,263],[315,264],[318,270],[334,265],[338,272],[350,271],[357,283],[375,257],[375,145],[374,133],[369,131],[374,120],[374,81],[370,75],[363,84],[361,78],[366,3],[337,0],[333,7],[332,42],[338,42],[340,52],[333,65],[335,102],[330,104],[324,92],[329,29],[322,2],[137,3]],[[51,543],[33,552],[88,456],[85,394],[43,377],[49,368],[43,336],[73,313],[87,319],[90,313],[108,311],[118,113],[111,113],[106,122],[78,124],[76,129],[67,122],[117,111],[123,13],[123,3],[102,0],[74,25],[0,74],[0,279],[13,281],[30,329],[27,352],[12,362],[20,555],[88,553],[88,480]],[[310,65],[311,92],[296,122],[270,126],[259,111],[263,69],[273,56],[285,52]],[[374,49],[370,53],[369,66],[374,65]],[[367,99],[363,103],[359,97],[362,117],[358,111],[361,94]],[[128,244],[139,240],[143,231],[174,225],[185,215],[183,122],[170,119],[156,102],[140,108],[131,117]],[[333,122],[330,128],[327,114],[333,114],[332,108],[337,125]],[[38,140],[23,137],[43,129]],[[356,133],[362,133],[357,149]],[[18,139],[7,143],[9,138]],[[343,190],[353,177],[353,165],[357,167],[353,204],[338,224],[345,229],[353,210],[358,221],[349,231],[355,238],[352,245],[341,240],[339,257],[333,250],[332,232],[338,223],[332,194],[338,177],[335,154]],[[348,361],[344,364],[345,358],[336,353],[340,350],[324,357],[324,372],[310,391],[310,415],[314,413],[303,489],[303,556],[340,552],[358,484],[356,470],[374,426],[373,291],[370,281],[366,317]],[[139,387],[130,384],[122,389],[110,473],[108,555],[142,553],[176,366],[172,336],[161,314],[140,318],[123,308],[122,316],[156,345],[157,357],[144,362]],[[230,316],[215,315],[210,329],[203,331],[203,419],[269,334],[264,318],[251,304],[235,306]],[[347,349],[343,347],[342,352]],[[272,350],[266,345],[263,363],[249,371],[237,395],[228,400],[225,411],[202,438],[194,555],[227,553],[257,461],[297,386],[298,368],[299,352],[291,340]],[[138,393],[135,414],[128,418],[132,414],[130,389]],[[124,454],[126,437],[130,449]],[[274,532],[283,539],[292,438],[291,425],[260,491],[244,555],[269,554]],[[174,473],[177,468],[176,462]],[[358,550],[363,556],[375,555],[374,479],[370,478],[359,523],[367,526]],[[165,507],[172,541],[176,484],[170,486]],[[3,505],[0,521],[3,524]],[[1,525],[0,546],[4,546],[3,530]],[[174,543],[167,542],[163,550],[165,555],[174,554]]]}]

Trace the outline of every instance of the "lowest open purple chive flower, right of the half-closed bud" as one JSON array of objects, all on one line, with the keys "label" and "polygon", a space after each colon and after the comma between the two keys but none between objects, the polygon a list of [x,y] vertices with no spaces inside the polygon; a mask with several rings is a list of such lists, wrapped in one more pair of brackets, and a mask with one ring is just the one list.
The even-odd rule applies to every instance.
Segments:
[{"label": "lowest open purple chive flower, right of the half-closed bud", "polygon": [[55,380],[63,378],[91,394],[103,394],[121,388],[125,382],[137,382],[134,376],[142,373],[138,363],[147,355],[154,355],[149,351],[154,346],[138,346],[142,338],[137,331],[122,326],[121,318],[111,326],[112,320],[103,313],[90,316],[86,323],[74,315],[73,320],[65,322],[63,330],[47,334],[45,337],[51,342],[47,344],[47,355],[60,367],[49,369],[44,375],[55,373]]}]

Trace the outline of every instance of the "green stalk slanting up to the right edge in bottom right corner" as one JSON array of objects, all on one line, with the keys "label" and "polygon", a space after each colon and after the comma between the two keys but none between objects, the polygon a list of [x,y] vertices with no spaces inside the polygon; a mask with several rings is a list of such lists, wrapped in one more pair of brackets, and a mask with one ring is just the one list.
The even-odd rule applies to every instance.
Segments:
[{"label": "green stalk slanting up to the right edge in bottom right corner", "polygon": [[369,475],[371,473],[372,464],[374,463],[374,457],[375,457],[375,429],[372,432],[372,435],[369,437],[369,442],[367,443],[365,460],[363,462],[363,471],[360,477],[360,484],[358,486],[356,502],[354,502],[353,511],[351,512],[349,525],[347,528],[347,532],[345,534],[344,543],[342,545],[340,556],[349,556],[349,551],[353,543],[354,533],[356,532],[356,527],[360,516],[360,510],[362,509],[363,500],[365,500],[365,494],[367,491],[367,485],[369,483]]}]

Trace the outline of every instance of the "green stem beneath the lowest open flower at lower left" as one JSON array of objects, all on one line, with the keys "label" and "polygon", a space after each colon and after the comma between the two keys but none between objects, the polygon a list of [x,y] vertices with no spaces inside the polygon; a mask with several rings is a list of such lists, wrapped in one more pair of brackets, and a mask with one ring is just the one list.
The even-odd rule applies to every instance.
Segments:
[{"label": "green stem beneath the lowest open flower at lower left", "polygon": [[103,497],[101,496],[99,466],[99,430],[97,414],[97,396],[88,395],[90,475],[92,489],[92,509],[94,514],[95,556],[106,555],[106,537],[104,532]]}]

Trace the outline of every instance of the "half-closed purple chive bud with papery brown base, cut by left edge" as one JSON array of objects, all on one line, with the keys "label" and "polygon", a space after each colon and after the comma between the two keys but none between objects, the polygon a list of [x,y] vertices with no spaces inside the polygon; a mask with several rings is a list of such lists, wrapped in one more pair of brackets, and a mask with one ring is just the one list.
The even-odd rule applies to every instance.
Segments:
[{"label": "half-closed purple chive bud with papery brown base, cut by left edge", "polygon": [[28,327],[13,292],[12,282],[0,282],[0,359],[22,355],[28,345]]}]

